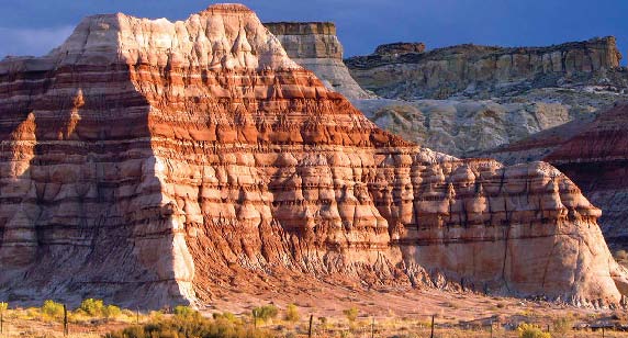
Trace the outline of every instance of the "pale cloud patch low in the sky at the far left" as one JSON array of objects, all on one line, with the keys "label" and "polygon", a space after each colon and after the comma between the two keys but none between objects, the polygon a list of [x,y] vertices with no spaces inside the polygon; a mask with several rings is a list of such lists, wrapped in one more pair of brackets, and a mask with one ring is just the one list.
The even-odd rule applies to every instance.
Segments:
[{"label": "pale cloud patch low in the sky at the far left", "polygon": [[7,55],[45,55],[60,45],[74,26],[44,29],[0,27],[0,59]]}]

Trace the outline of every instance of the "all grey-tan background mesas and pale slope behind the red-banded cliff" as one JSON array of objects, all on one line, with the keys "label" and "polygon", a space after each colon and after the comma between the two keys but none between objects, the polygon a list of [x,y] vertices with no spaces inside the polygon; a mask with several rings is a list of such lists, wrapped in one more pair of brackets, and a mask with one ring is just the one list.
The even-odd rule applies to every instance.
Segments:
[{"label": "all grey-tan background mesas and pale slope behind the red-banded cliff", "polygon": [[[548,47],[467,45],[429,52],[425,52],[423,43],[380,45],[370,56],[347,59],[354,75],[361,77],[361,84],[384,97],[378,98],[367,94],[351,78],[340,59],[343,47],[333,23],[265,25],[294,61],[313,70],[379,127],[457,157],[472,157],[540,131],[586,119],[628,94],[621,93],[628,88],[628,77],[623,76],[628,72],[618,68],[620,55],[612,37]],[[564,67],[561,64],[554,70],[535,64],[541,63],[545,55],[554,55],[554,61],[564,61]],[[519,70],[511,69],[514,66],[507,63],[482,66],[484,74],[480,77],[468,69],[506,56],[517,63],[526,59],[529,65],[518,65]],[[452,58],[457,66],[451,69],[426,68],[449,65]],[[583,63],[593,66],[583,67]],[[455,90],[438,92],[451,86]],[[415,97],[425,99],[414,100]]]}]

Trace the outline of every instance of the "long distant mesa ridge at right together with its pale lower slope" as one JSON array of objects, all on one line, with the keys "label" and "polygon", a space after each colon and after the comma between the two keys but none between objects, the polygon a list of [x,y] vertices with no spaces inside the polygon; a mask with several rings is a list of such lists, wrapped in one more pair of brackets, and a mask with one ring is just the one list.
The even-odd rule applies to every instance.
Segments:
[{"label": "long distant mesa ridge at right together with its pale lower slope", "polygon": [[[581,55],[587,56],[590,66],[579,60]],[[375,53],[366,57],[363,69],[351,71],[363,71],[362,84],[391,99],[354,103],[380,127],[406,139],[469,156],[587,119],[628,99],[628,72],[618,66],[619,59],[613,37],[549,47],[463,45],[427,53]],[[562,66],[554,69],[548,63]],[[395,83],[379,82],[380,76]],[[407,100],[416,97],[431,99]]]}]

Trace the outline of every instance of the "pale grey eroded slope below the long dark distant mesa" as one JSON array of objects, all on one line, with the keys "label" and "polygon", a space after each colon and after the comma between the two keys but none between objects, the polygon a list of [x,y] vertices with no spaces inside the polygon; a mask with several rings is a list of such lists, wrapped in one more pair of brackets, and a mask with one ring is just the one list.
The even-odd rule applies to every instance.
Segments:
[{"label": "pale grey eroded slope below the long dark distant mesa", "polygon": [[378,126],[437,151],[468,157],[581,119],[607,101],[354,100]]}]

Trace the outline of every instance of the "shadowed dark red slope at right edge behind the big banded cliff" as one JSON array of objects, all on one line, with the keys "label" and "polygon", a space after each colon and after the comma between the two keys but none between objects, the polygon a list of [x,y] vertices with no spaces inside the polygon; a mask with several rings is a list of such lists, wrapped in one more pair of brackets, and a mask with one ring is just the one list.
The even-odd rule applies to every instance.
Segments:
[{"label": "shadowed dark red slope at right edge behind the big banded cliff", "polygon": [[602,209],[605,238],[628,238],[628,103],[484,153],[506,162],[546,160],[557,166]]}]

